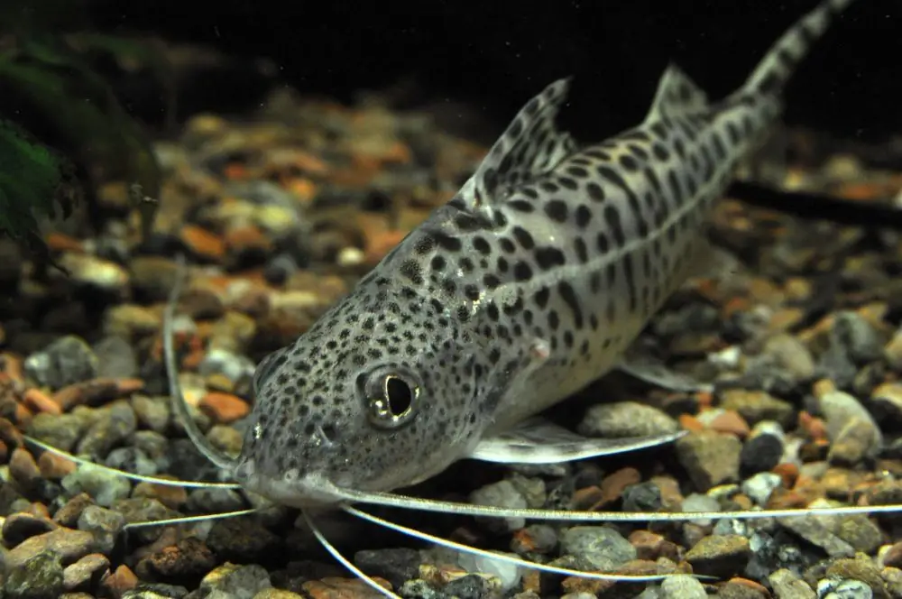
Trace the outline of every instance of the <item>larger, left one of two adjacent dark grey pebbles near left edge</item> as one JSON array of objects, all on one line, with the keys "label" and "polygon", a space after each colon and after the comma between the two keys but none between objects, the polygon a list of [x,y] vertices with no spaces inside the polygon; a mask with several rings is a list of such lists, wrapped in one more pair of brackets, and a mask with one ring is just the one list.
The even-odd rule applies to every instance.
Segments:
[{"label": "larger, left one of two adjacent dark grey pebbles near left edge", "polygon": [[97,376],[97,355],[81,337],[69,335],[57,339],[42,351],[29,355],[25,374],[39,385],[60,389]]}]

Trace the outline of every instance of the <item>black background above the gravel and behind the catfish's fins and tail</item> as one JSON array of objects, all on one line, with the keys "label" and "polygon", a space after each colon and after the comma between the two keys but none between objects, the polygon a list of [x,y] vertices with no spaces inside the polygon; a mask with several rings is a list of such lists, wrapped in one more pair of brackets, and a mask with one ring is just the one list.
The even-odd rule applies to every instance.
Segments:
[{"label": "black background above the gravel and behind the catfish's fins and tail", "polygon": [[[637,123],[675,60],[713,98],[737,87],[815,0],[97,0],[109,32],[152,32],[266,57],[302,92],[345,101],[412,77],[410,104],[472,103],[496,134],[552,80],[578,138]],[[259,90],[226,79],[211,97]],[[216,109],[216,106],[201,106]],[[787,89],[788,124],[861,140],[902,133],[902,1],[858,0]]]}]

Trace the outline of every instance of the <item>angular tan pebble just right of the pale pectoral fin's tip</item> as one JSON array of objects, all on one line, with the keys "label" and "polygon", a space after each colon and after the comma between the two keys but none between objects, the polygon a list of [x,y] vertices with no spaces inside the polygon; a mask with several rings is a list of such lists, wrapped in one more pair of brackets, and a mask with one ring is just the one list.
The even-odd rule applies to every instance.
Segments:
[{"label": "angular tan pebble just right of the pale pectoral fin's tip", "polygon": [[702,430],[676,440],[676,456],[700,491],[739,479],[742,443],[732,435]]}]

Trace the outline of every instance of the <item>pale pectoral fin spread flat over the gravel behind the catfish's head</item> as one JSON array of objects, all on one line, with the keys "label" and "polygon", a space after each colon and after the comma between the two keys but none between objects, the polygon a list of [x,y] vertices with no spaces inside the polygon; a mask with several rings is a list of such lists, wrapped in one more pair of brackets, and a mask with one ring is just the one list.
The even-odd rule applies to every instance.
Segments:
[{"label": "pale pectoral fin spread flat over the gravel behind the catfish's head", "polygon": [[651,437],[589,438],[546,419],[532,418],[502,435],[483,439],[468,457],[499,464],[558,464],[657,447],[684,434],[685,431],[679,431]]}]

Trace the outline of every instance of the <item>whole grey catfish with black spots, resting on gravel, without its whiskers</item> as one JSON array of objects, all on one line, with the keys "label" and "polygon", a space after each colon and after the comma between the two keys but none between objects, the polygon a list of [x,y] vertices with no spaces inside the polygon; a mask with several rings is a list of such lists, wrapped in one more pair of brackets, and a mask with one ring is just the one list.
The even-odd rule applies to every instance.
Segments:
[{"label": "whole grey catfish with black spots, resting on gravel, without its whiskers", "polygon": [[621,364],[685,281],[737,161],[850,2],[806,14],[717,103],[670,66],[644,121],[603,143],[579,148],[557,128],[568,81],[549,85],[455,198],[262,362],[242,455],[224,464],[308,507],[465,457],[554,462],[674,438],[581,438],[535,415]]}]

